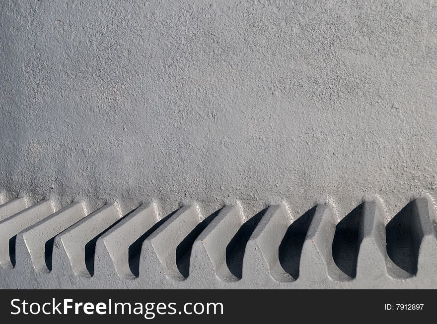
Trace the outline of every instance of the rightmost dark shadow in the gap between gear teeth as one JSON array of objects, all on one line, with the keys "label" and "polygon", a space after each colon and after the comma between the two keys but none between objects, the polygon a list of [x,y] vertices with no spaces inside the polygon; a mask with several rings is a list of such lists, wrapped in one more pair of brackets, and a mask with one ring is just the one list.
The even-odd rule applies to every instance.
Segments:
[{"label": "rightmost dark shadow in the gap between gear teeth", "polygon": [[387,254],[402,270],[415,275],[422,239],[416,203],[410,202],[385,227]]}]

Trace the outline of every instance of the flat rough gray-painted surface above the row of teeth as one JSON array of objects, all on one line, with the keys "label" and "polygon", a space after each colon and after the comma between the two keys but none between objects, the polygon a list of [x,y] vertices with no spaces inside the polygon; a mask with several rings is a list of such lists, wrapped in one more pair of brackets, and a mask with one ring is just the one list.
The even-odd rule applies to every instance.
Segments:
[{"label": "flat rough gray-painted surface above the row of teeth", "polygon": [[437,189],[436,65],[431,0],[4,0],[0,189],[387,221]]}]

